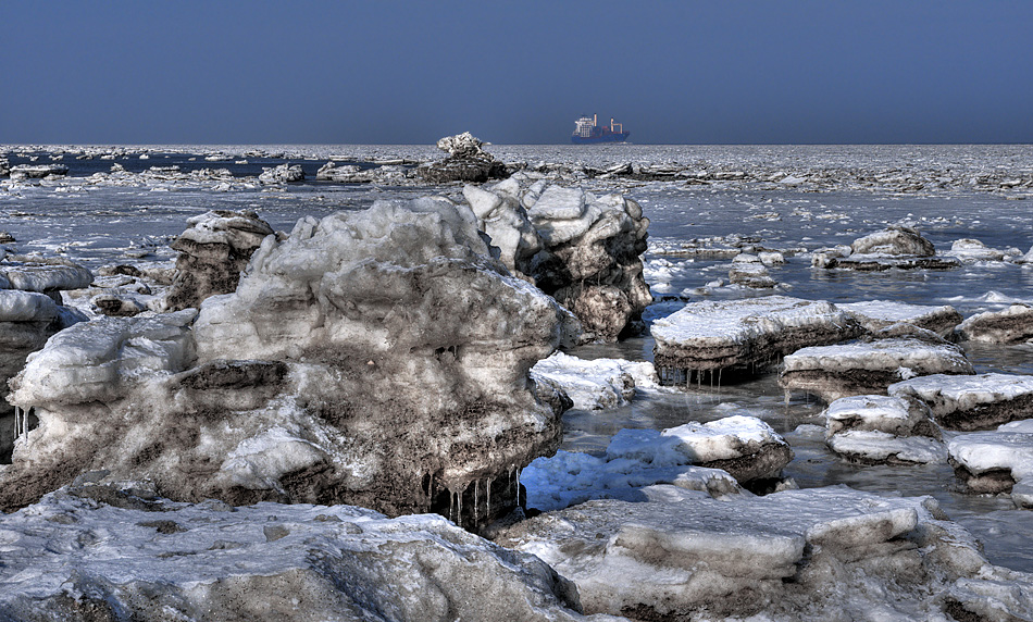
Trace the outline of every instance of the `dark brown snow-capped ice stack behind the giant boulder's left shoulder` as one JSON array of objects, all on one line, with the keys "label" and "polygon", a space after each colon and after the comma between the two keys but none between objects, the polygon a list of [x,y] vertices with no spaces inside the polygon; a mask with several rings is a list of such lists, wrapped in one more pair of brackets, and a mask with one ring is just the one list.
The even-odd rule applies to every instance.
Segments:
[{"label": "dark brown snow-capped ice stack behind the giant boulder's left shoulder", "polygon": [[269,223],[250,211],[206,212],[188,219],[187,224],[190,226],[171,245],[179,253],[165,297],[165,308],[171,311],[197,308],[209,296],[236,289],[251,254],[273,234]]}]

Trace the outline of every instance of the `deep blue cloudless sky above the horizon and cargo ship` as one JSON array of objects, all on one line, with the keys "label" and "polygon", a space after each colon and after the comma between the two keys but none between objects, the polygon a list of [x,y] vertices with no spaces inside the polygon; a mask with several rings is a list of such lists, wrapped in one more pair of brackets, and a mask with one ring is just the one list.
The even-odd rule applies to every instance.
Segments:
[{"label": "deep blue cloudless sky above the horizon and cargo ship", "polygon": [[0,0],[0,144],[1033,142],[1033,2]]}]

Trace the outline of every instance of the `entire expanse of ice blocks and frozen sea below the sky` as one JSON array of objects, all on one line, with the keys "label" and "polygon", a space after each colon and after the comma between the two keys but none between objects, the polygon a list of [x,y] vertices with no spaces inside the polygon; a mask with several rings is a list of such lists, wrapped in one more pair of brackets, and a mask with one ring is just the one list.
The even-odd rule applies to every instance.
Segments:
[{"label": "entire expanse of ice blocks and frozen sea below the sky", "polygon": [[0,620],[1033,619],[1029,148],[459,138],[0,153]]}]

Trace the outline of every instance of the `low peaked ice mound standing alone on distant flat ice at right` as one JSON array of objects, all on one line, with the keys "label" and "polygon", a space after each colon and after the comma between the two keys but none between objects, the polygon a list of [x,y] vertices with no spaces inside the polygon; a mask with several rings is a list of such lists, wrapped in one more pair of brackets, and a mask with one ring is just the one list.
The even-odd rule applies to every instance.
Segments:
[{"label": "low peaked ice mound standing alone on distant flat ice at right", "polygon": [[825,269],[858,270],[864,272],[899,270],[946,270],[960,265],[957,259],[936,257],[933,242],[918,229],[891,225],[854,240],[848,248],[825,249],[816,252],[811,265]]}]

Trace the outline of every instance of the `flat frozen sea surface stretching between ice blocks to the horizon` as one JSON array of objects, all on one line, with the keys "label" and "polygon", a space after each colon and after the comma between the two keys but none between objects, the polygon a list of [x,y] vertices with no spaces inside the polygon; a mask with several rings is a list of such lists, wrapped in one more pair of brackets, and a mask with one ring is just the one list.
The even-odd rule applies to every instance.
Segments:
[{"label": "flat frozen sea surface stretching between ice blocks to the horizon", "polygon": [[[948,271],[854,273],[810,266],[809,253],[849,244],[889,224],[919,228],[938,252],[959,239],[1025,253],[1033,246],[1033,146],[489,146],[506,162],[562,170],[567,183],[592,191],[623,191],[650,219],[647,281],[658,302],[647,320],[690,300],[771,294],[713,286],[727,281],[731,260],[721,253],[675,252],[686,245],[723,249],[748,246],[781,251],[786,263],[770,269],[774,290],[833,302],[896,300],[953,304],[963,316],[1033,300],[1033,268],[1008,261],[966,261]],[[89,159],[76,154],[90,152]],[[61,254],[96,269],[105,264],[171,262],[169,242],[185,221],[212,209],[254,210],[274,228],[289,231],[301,216],[361,210],[376,199],[441,194],[461,200],[459,186],[383,186],[303,182],[263,187],[262,166],[301,163],[310,178],[327,160],[372,166],[377,162],[439,158],[432,146],[172,146],[0,147],[11,164],[70,166],[62,181],[0,181],[0,232],[18,252]],[[101,154],[105,157],[101,157]],[[146,156],[141,158],[141,156]],[[35,161],[33,159],[36,159]],[[206,159],[208,158],[208,159]],[[640,179],[596,173],[630,163],[675,172]],[[94,183],[89,177],[120,164],[128,172],[177,165],[183,171],[225,167],[231,183]],[[586,170],[592,174],[586,174]],[[617,345],[585,346],[583,358],[650,360],[648,336]],[[967,351],[976,372],[1033,374],[1033,346],[979,346]],[[752,414],[787,436],[796,459],[786,469],[801,487],[832,484],[887,495],[932,495],[979,537],[991,561],[1033,571],[1033,513],[1007,498],[954,492],[947,465],[861,467],[833,456],[821,439],[793,434],[821,424],[821,407],[804,395],[788,402],[776,374],[729,386],[637,398],[602,412],[564,415],[564,449],[600,453],[624,427],[665,428],[688,421]]]}]

